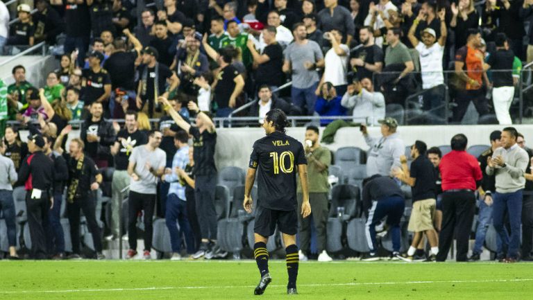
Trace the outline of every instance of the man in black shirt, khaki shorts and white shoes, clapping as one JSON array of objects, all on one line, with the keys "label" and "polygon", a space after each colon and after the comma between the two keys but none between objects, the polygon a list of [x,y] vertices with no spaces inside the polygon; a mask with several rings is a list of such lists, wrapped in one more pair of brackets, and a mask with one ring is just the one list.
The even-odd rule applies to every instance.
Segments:
[{"label": "man in black shirt, khaki shorts and white shoes, clapping", "polygon": [[414,232],[411,247],[407,250],[404,261],[413,261],[414,253],[418,243],[422,240],[423,234],[428,237],[431,246],[429,261],[435,261],[439,246],[437,232],[434,229],[435,206],[435,169],[425,151],[428,146],[423,141],[415,141],[411,146],[411,157],[414,159],[411,169],[407,166],[407,157],[400,156],[402,170],[395,169],[395,176],[402,182],[411,186],[413,196],[413,210],[409,219],[409,231]]}]

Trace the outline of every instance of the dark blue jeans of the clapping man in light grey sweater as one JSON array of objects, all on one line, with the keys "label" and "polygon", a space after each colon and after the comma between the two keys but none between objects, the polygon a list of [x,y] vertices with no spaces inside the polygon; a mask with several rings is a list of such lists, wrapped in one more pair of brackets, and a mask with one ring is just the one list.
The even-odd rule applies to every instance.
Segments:
[{"label": "dark blue jeans of the clapping man in light grey sweater", "polygon": [[[523,190],[518,190],[514,193],[494,194],[492,218],[494,229],[496,229],[502,242],[502,249],[501,252],[498,252],[498,255],[507,253],[509,258],[518,258],[522,226],[522,192]],[[506,211],[511,224],[511,236],[509,236],[504,226]]]}]

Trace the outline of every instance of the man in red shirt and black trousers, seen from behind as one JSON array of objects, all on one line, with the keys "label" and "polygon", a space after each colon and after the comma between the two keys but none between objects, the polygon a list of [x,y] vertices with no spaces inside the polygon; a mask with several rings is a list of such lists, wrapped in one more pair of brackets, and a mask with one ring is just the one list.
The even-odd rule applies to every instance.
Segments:
[{"label": "man in red shirt and black trousers, seen from behind", "polygon": [[457,261],[466,261],[468,236],[475,213],[474,191],[483,177],[480,165],[466,150],[464,134],[452,137],[452,152],[444,155],[439,164],[442,178],[442,229],[439,235],[437,261],[446,261],[453,236],[457,240]]}]

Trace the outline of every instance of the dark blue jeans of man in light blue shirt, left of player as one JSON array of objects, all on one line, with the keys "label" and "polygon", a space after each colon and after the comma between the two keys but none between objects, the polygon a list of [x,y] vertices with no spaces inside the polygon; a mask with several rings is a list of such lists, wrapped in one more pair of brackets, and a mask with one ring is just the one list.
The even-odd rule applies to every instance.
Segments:
[{"label": "dark blue jeans of man in light blue shirt, left of player", "polygon": [[[178,198],[174,193],[167,197],[167,210],[164,215],[167,222],[167,228],[170,233],[170,244],[172,252],[180,253],[181,251],[181,235],[185,236],[185,243],[187,244],[187,253],[194,253],[194,236],[192,235],[191,225],[187,218],[187,202]],[[176,226],[176,220],[180,228]]]}]

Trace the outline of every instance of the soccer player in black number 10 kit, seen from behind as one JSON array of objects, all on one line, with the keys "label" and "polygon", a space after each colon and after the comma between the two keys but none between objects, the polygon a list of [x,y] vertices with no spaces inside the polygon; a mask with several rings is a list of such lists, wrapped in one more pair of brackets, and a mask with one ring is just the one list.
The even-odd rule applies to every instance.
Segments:
[{"label": "soccer player in black number 10 kit, seen from behind", "polygon": [[298,247],[296,246],[296,231],[298,229],[296,170],[301,178],[303,218],[307,218],[311,214],[311,206],[307,189],[305,151],[300,142],[285,134],[286,125],[287,116],[281,109],[272,109],[267,112],[263,123],[267,136],[253,144],[248,173],[246,174],[243,205],[244,209],[251,213],[253,204],[250,194],[255,172],[259,168],[253,253],[261,274],[261,281],[255,288],[254,294],[263,294],[267,285],[272,281],[269,274],[267,241],[276,230],[276,224],[283,233],[283,242],[286,246],[287,272],[289,274],[287,294],[298,294],[296,292],[299,261]]}]

